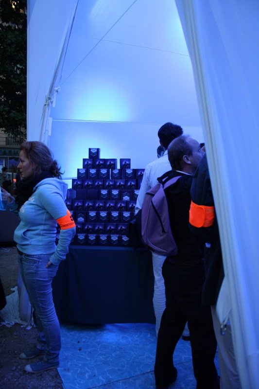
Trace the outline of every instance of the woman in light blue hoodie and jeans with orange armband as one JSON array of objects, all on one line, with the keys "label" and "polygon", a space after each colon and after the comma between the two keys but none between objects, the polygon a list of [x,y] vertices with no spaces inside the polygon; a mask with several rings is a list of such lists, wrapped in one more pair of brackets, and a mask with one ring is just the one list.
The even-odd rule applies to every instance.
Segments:
[{"label": "woman in light blue hoodie and jeans with orange armband", "polygon": [[[61,181],[57,161],[44,143],[22,143],[18,168],[21,181],[17,197],[11,199],[8,207],[18,212],[20,218],[14,233],[18,265],[38,330],[37,344],[20,354],[20,358],[42,356],[25,366],[25,371],[36,373],[59,365],[60,327],[52,298],[52,279],[60,261],[66,258],[75,223],[64,201],[67,184]],[[56,246],[57,224],[60,236]]]}]

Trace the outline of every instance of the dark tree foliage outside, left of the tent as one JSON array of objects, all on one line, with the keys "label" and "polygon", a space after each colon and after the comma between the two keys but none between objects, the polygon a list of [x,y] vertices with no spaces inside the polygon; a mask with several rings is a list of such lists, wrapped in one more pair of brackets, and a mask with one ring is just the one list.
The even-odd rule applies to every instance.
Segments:
[{"label": "dark tree foliage outside, left of the tent", "polygon": [[0,0],[0,128],[26,138],[26,0]]}]

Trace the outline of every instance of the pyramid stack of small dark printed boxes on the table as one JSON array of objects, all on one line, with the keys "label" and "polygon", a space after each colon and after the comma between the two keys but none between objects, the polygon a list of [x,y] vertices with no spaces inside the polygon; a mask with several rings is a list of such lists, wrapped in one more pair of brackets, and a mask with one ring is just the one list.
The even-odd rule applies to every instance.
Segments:
[{"label": "pyramid stack of small dark printed boxes on the table", "polygon": [[144,169],[131,169],[128,158],[119,163],[117,168],[117,159],[101,159],[99,148],[89,148],[66,198],[76,224],[71,245],[131,246],[128,225]]}]

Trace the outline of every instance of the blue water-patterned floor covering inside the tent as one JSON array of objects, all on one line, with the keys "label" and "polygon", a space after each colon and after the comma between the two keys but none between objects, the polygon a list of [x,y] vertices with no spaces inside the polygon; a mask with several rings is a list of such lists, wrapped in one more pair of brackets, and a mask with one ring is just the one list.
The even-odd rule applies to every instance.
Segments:
[{"label": "blue water-patterned floor covering inside the tent", "polygon": [[[61,336],[64,389],[155,388],[155,325],[62,324]],[[190,342],[180,339],[173,358],[178,377],[172,388],[195,389]]]}]

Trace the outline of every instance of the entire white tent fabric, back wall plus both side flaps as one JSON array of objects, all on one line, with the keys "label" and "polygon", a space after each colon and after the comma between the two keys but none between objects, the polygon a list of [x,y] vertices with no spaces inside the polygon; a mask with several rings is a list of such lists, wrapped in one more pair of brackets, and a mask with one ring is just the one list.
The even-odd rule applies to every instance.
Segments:
[{"label": "entire white tent fabric, back wall plus both side flaps", "polygon": [[[259,2],[176,4],[198,92],[238,368],[243,388],[254,389]],[[50,141],[67,177],[88,147],[101,146],[102,158],[132,157],[132,167],[144,167],[155,159],[157,129],[167,121],[203,141],[190,57],[172,0],[29,0],[28,140]],[[55,107],[48,105],[42,116],[59,87]],[[50,107],[52,132],[44,124]]]}]

